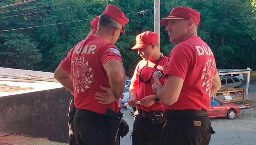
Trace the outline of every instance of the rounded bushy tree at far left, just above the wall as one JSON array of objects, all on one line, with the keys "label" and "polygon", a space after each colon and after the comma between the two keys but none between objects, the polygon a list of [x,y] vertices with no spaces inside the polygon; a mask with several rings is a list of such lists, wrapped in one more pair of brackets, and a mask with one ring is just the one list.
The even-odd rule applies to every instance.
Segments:
[{"label": "rounded bushy tree at far left, just above the wall", "polygon": [[5,43],[0,44],[1,67],[33,70],[34,65],[42,61],[38,43],[27,35],[9,33],[2,37],[5,38]]}]

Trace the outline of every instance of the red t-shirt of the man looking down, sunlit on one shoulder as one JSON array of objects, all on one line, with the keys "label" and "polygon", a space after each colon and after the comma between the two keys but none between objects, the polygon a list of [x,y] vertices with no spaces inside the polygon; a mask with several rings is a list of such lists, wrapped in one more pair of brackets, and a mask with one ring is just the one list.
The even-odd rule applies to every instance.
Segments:
[{"label": "red t-shirt of the man looking down, sunlit on one shoulder", "polygon": [[[143,83],[140,81],[139,79],[139,74],[140,74],[140,71],[141,71],[141,79],[143,81],[147,81],[152,72],[154,72],[154,74],[156,74],[157,78],[159,79],[159,81],[161,82],[161,84],[163,85],[164,84],[164,75],[163,75],[163,69],[164,69],[164,65],[166,63],[166,61],[168,60],[168,57],[164,56],[162,57],[159,62],[156,61],[144,61],[144,60],[141,60],[137,66],[136,66],[136,69],[134,71],[134,74],[132,76],[132,80],[131,82],[134,83],[136,86],[138,86],[138,92],[136,94],[137,98],[140,100],[148,95],[155,95],[154,91],[152,90],[152,87],[151,87],[151,81],[154,81],[153,77],[151,78],[151,81],[149,83]],[[157,62],[157,65],[156,65],[156,62]],[[153,70],[153,67],[156,65],[156,68]],[[146,106],[140,106],[139,105],[139,108],[141,110],[144,110],[144,111],[154,111],[154,110],[162,110],[162,107],[161,107],[161,104],[160,103],[157,103],[157,104],[153,104],[149,107],[146,107]]]}]

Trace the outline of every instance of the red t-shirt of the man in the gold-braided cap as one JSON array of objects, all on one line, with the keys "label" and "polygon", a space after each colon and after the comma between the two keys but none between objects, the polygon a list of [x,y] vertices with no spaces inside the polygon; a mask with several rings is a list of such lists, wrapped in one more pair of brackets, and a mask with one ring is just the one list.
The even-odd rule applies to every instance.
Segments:
[{"label": "red t-shirt of the man in the gold-braided cap", "polygon": [[217,73],[211,48],[197,36],[173,47],[164,72],[184,80],[178,101],[173,105],[162,103],[164,111],[183,109],[210,109],[212,80]]}]

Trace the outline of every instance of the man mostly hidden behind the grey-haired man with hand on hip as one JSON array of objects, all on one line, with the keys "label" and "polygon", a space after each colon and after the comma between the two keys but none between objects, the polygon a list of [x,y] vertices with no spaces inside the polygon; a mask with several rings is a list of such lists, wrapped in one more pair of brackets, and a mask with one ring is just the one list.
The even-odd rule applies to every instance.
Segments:
[{"label": "man mostly hidden behind the grey-haired man with hand on hip", "polygon": [[[98,28],[97,25],[98,25],[98,22],[99,22],[99,17],[100,16],[96,16],[91,21],[90,31],[89,31],[88,35],[86,36],[86,38],[90,35],[93,36],[96,33],[97,28]],[[68,145],[76,145],[75,136],[74,136],[74,129],[73,129],[75,113],[76,113],[76,107],[74,105],[74,97],[73,97],[70,101],[69,110],[68,110],[68,127],[69,127]]]}]

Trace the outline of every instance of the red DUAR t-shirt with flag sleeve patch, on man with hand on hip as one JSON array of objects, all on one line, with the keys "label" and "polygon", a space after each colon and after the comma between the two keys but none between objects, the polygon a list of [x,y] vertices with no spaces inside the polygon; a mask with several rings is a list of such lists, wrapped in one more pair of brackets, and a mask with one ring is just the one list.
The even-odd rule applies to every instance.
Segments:
[{"label": "red DUAR t-shirt with flag sleeve patch, on man with hand on hip", "polygon": [[104,64],[111,59],[123,64],[121,54],[115,45],[101,37],[89,36],[76,44],[62,60],[62,69],[72,73],[76,108],[100,114],[105,114],[107,108],[119,111],[119,99],[109,105],[103,105],[94,98],[96,92],[104,92],[100,89],[100,84],[110,87]]}]

